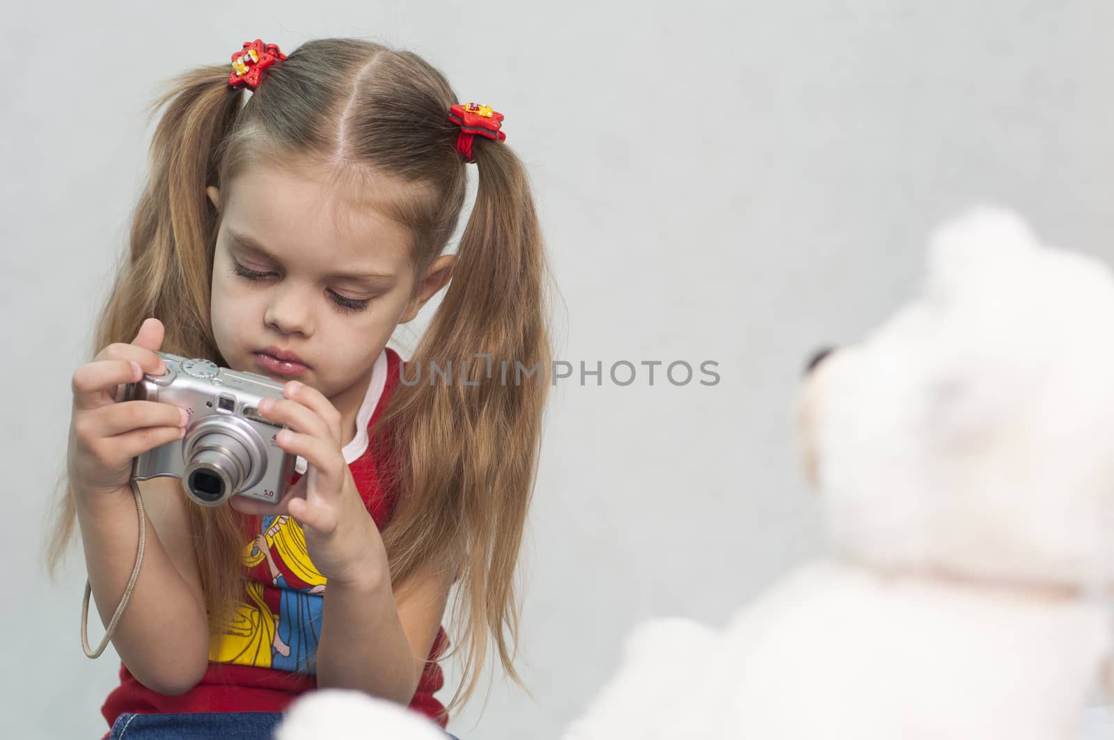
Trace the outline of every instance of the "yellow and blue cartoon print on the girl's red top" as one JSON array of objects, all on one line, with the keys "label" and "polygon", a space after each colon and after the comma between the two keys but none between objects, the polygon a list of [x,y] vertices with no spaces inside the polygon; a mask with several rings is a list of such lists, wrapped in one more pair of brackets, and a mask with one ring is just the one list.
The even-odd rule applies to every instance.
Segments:
[{"label": "yellow and blue cartoon print on the girl's red top", "polygon": [[209,660],[316,673],[311,660],[326,578],[310,559],[302,527],[287,515],[263,517],[260,534],[244,546],[243,563],[247,601],[237,604],[224,633],[214,635]]}]

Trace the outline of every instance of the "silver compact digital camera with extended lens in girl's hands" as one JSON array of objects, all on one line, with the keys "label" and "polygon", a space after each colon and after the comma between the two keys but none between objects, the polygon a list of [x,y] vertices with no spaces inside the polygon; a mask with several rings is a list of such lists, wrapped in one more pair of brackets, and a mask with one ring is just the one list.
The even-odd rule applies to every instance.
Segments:
[{"label": "silver compact digital camera with extended lens in girl's hands", "polygon": [[278,447],[284,428],[258,412],[264,398],[282,398],[283,383],[254,372],[219,368],[209,360],[157,352],[166,374],[127,383],[125,400],[165,401],[189,415],[182,439],[133,460],[131,477],[182,479],[186,496],[218,506],[232,496],[275,504],[290,487],[297,457]]}]

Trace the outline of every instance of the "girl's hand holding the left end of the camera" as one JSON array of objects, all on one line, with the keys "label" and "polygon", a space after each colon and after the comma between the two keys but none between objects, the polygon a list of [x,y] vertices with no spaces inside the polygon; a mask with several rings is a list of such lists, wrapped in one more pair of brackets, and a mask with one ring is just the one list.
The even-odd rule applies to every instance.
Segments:
[{"label": "girl's hand holding the left end of the camera", "polygon": [[163,323],[147,319],[130,344],[109,344],[74,372],[67,469],[75,494],[128,490],[131,458],[184,436],[185,409],[159,401],[117,401],[124,383],[139,381],[145,372],[166,372],[155,353],[163,335]]}]

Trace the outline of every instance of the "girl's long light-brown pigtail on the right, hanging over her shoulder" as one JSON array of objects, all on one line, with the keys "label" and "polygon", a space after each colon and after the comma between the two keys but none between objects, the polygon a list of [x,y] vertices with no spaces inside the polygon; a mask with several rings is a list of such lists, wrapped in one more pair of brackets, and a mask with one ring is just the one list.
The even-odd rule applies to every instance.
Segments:
[{"label": "girl's long light-brown pigtail on the right, hanging over her shoulder", "polygon": [[[488,635],[504,670],[522,685],[514,668],[521,610],[515,565],[551,366],[548,266],[527,174],[506,145],[477,139],[473,146],[479,184],[452,281],[383,420],[398,421],[409,448],[407,495],[384,532],[392,578],[404,578],[437,549],[442,567],[458,576],[453,623],[468,650],[450,708],[475,690]],[[490,357],[490,367],[479,356]],[[433,361],[441,370],[451,366],[451,383],[433,377]]]}]

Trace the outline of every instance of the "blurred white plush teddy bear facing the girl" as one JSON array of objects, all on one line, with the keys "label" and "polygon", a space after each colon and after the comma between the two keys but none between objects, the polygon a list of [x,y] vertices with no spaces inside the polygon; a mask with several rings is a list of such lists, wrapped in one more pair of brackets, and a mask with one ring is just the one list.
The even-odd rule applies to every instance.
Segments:
[{"label": "blurred white plush teddy bear facing the girl", "polygon": [[724,630],[636,630],[565,740],[1075,738],[1112,636],[1112,271],[973,212],[794,419],[828,556]]}]

